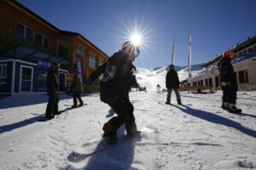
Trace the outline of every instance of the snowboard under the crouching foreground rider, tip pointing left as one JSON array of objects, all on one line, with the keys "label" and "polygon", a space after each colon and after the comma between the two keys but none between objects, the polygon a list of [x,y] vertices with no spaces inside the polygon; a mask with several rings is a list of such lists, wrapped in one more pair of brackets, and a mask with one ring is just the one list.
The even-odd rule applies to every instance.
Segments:
[{"label": "snowboard under the crouching foreground rider, tip pointing left", "polygon": [[159,132],[156,128],[143,127],[143,129],[141,130],[141,135],[138,138],[131,138],[126,135],[122,135],[122,136],[119,136],[116,143],[113,143],[113,144],[108,144],[106,139],[101,139],[99,143],[93,142],[93,143],[83,144],[82,147],[79,147],[78,149],[73,150],[73,152],[71,152],[69,156],[67,156],[67,159],[68,161],[72,161],[72,162],[83,161],[84,159],[90,156],[93,156],[96,153],[99,153],[103,150],[108,150],[113,147],[117,147],[120,144],[135,144],[141,141],[143,138],[147,139],[148,134],[151,134],[151,133],[159,133]]}]

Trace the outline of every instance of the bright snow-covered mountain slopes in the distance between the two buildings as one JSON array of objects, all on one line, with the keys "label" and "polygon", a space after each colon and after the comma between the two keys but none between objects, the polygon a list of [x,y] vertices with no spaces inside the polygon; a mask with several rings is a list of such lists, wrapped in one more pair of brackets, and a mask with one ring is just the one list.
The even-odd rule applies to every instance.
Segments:
[{"label": "bright snow-covered mountain slopes in the distance between the two buildings", "polygon": [[[175,70],[177,71],[180,82],[183,82],[183,80],[189,77],[187,66],[175,66]],[[161,88],[166,88],[167,71],[169,71],[168,66],[156,67],[153,70],[137,68],[137,72],[135,74],[137,77],[137,82],[140,84],[140,86],[146,87],[149,91],[155,91],[157,84],[160,84]],[[204,70],[201,68],[201,64],[191,65],[192,77],[195,77],[202,71]]]}]

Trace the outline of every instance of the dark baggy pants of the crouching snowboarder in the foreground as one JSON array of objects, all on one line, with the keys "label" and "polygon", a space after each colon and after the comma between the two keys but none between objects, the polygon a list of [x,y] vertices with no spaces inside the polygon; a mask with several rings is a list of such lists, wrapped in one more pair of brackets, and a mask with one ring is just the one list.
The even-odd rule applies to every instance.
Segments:
[{"label": "dark baggy pants of the crouching snowboarder in the foreground", "polygon": [[113,126],[113,133],[116,133],[123,123],[125,123],[125,130],[127,133],[137,130],[135,117],[133,115],[134,107],[131,104],[130,99],[128,99],[125,94],[115,96],[112,99],[108,99],[108,101],[103,102],[107,103],[118,115],[108,121]]}]

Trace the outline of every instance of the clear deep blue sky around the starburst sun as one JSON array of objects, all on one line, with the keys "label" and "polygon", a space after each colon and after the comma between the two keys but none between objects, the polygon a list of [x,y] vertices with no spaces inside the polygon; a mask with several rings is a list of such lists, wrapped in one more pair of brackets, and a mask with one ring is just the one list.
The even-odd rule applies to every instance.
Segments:
[{"label": "clear deep blue sky around the starburst sun", "polygon": [[211,59],[248,36],[256,36],[255,0],[18,0],[54,26],[75,31],[111,56],[129,31],[143,32],[137,67],[170,64],[177,39],[175,65]]}]

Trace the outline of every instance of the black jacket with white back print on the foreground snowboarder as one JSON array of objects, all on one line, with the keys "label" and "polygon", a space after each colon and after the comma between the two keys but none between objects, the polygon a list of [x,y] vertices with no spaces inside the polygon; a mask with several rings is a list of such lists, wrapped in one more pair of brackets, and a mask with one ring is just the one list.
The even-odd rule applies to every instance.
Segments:
[{"label": "black jacket with white back print on the foreground snowboarder", "polygon": [[90,79],[92,82],[103,74],[100,83],[102,101],[105,102],[108,97],[122,95],[126,88],[137,84],[136,77],[133,75],[133,68],[134,65],[132,65],[129,55],[119,50],[108,59],[107,63],[91,73]]}]

